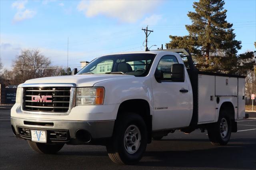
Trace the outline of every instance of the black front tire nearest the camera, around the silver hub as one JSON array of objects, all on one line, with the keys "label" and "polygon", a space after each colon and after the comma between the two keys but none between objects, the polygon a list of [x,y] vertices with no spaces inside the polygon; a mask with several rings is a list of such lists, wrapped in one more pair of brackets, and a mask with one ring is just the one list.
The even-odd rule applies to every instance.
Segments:
[{"label": "black front tire nearest the camera, around the silver hub", "polygon": [[[140,161],[140,159],[142,158],[146,150],[146,146],[147,146],[146,124],[142,119],[142,117],[138,114],[135,114],[135,113],[120,113],[120,114],[121,114],[120,117],[116,120],[112,139],[106,146],[108,156],[113,162],[117,164],[136,164],[137,162]],[[137,135],[138,133],[136,134],[135,132],[134,134],[136,135],[134,135],[133,132],[128,132],[129,129],[132,130],[132,127],[135,127],[135,129],[138,129],[138,133],[140,133],[140,138]],[[135,137],[127,136],[128,134],[134,135]],[[128,142],[126,142],[126,140],[128,139],[130,139],[130,141],[128,142],[135,141],[137,142],[137,144],[140,143],[137,148],[135,147],[135,144],[133,145],[132,143],[130,143],[131,144],[130,148],[132,148],[132,151],[130,150],[130,152],[135,152],[135,153],[129,153],[128,146],[126,145],[126,144],[129,144]]]}]

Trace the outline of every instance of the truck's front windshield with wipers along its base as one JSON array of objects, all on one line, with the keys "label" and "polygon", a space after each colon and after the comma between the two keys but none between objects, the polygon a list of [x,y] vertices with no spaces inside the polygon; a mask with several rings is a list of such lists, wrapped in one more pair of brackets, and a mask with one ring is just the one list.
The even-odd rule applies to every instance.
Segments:
[{"label": "truck's front windshield with wipers along its base", "polygon": [[134,53],[106,55],[94,59],[77,74],[128,74],[146,76],[155,54]]}]

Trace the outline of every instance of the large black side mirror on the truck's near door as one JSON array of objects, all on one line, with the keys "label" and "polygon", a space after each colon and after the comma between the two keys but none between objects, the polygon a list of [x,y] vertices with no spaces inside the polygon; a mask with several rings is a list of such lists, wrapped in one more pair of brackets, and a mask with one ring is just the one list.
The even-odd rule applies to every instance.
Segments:
[{"label": "large black side mirror on the truck's near door", "polygon": [[172,81],[184,82],[185,73],[183,64],[173,64],[172,65]]}]

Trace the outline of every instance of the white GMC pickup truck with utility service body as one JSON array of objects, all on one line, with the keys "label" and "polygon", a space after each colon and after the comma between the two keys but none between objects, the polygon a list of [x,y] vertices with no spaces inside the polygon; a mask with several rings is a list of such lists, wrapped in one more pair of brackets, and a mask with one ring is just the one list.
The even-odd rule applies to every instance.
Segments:
[{"label": "white GMC pickup truck with utility service body", "polygon": [[245,77],[200,72],[185,49],[106,55],[74,72],[18,86],[11,127],[37,152],[104,145],[113,162],[134,164],[175,130],[207,129],[225,145],[245,117]]}]

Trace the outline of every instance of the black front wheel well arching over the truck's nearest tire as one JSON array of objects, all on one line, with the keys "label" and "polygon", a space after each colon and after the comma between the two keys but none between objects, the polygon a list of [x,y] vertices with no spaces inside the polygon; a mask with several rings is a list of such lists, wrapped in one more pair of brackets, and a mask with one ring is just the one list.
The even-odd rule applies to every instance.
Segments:
[{"label": "black front wheel well arching over the truck's nearest tire", "polygon": [[144,99],[131,99],[122,102],[119,106],[116,119],[118,119],[118,117],[124,112],[137,113],[144,119],[148,130],[148,143],[150,143],[152,133],[152,116],[150,115],[150,106],[148,101]]}]

